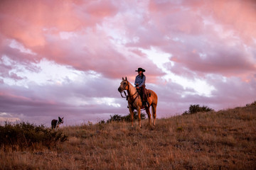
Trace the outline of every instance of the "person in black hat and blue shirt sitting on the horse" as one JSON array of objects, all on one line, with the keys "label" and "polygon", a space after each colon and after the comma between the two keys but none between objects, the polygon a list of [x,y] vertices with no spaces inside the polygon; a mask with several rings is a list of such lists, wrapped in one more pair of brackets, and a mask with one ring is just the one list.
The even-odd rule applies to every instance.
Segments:
[{"label": "person in black hat and blue shirt sitting on the horse", "polygon": [[138,70],[135,70],[135,72],[138,72],[138,75],[135,79],[134,84],[137,90],[139,91],[140,96],[142,97],[142,105],[145,107],[148,107],[149,103],[146,98],[146,85],[145,85],[146,76],[143,74],[144,72],[146,72],[146,70],[139,67]]}]

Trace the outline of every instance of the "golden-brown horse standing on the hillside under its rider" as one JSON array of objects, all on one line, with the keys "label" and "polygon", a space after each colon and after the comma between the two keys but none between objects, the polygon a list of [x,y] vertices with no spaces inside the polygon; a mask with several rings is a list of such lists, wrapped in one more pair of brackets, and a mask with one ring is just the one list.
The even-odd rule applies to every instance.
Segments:
[{"label": "golden-brown horse standing on the hillside under its rider", "polygon": [[[121,96],[122,96],[122,92],[125,90],[128,93],[127,101],[129,105],[129,113],[131,114],[132,127],[133,127],[133,120],[134,120],[134,109],[136,109],[139,117],[138,118],[139,127],[142,128],[141,109],[144,108],[144,106],[142,106],[142,98],[139,96],[137,89],[134,86],[132,86],[132,84],[129,83],[129,81],[127,80],[127,77],[125,77],[125,79],[122,78],[122,82],[118,88],[118,91],[120,92]],[[156,125],[157,95],[154,91],[151,91],[149,89],[146,90],[146,94],[148,96],[149,107],[151,106],[151,110],[154,118],[153,125]],[[145,110],[146,110],[146,114],[149,117],[149,125],[151,125],[151,114],[149,111],[149,107],[146,107]]]}]

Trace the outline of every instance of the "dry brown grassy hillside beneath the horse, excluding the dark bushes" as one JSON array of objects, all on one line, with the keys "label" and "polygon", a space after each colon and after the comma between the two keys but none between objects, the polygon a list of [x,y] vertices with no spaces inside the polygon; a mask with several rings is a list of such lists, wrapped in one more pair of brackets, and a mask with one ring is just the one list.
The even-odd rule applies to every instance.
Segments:
[{"label": "dry brown grassy hillside beneath the horse, excluding the dark bushes", "polygon": [[0,169],[256,169],[256,106],[61,128],[68,141],[1,145]]}]

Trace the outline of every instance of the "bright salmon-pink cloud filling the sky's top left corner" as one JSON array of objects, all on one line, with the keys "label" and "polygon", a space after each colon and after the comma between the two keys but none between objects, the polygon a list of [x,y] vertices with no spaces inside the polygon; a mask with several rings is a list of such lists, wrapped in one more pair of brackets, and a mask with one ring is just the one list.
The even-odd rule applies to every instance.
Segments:
[{"label": "bright salmon-pink cloud filling the sky's top left corner", "polygon": [[104,5],[91,1],[84,6],[80,8],[70,1],[4,1],[0,7],[1,33],[26,47],[38,47],[47,43],[44,30],[73,31],[95,26],[117,12],[107,1]]}]

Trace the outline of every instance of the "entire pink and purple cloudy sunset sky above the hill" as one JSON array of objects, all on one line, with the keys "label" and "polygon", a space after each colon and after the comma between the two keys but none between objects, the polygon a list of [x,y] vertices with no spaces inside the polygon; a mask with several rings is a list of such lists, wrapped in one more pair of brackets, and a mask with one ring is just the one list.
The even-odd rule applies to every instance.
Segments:
[{"label": "entire pink and purple cloudy sunset sky above the hill", "polygon": [[0,1],[0,121],[127,115],[138,67],[157,118],[256,101],[256,1]]}]

